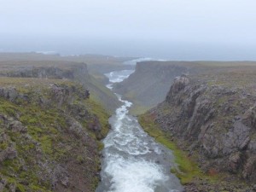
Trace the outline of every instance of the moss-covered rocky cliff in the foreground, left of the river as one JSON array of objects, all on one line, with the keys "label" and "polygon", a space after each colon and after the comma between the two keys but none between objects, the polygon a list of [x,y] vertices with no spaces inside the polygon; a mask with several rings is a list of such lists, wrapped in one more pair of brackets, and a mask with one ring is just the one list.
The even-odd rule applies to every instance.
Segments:
[{"label": "moss-covered rocky cliff in the foreground, left of the river", "polygon": [[0,78],[0,191],[93,191],[108,114],[83,86]]}]

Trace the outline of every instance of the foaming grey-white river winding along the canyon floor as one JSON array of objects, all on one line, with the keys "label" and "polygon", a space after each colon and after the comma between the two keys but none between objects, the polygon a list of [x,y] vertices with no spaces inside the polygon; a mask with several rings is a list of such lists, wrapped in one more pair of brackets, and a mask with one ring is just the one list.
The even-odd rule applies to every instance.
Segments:
[{"label": "foaming grey-white river winding along the canyon floor", "polygon": [[[131,70],[106,74],[111,84],[121,82]],[[109,119],[111,131],[103,140],[102,182],[96,192],[178,192],[183,187],[170,170],[174,166],[172,151],[154,142],[129,115],[132,103],[123,103]]]}]

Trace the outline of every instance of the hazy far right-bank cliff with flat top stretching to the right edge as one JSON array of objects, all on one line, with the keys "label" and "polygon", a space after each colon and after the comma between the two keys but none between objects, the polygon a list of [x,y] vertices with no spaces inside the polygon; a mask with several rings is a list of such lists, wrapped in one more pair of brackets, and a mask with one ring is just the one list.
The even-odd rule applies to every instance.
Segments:
[{"label": "hazy far right-bank cliff with flat top stretching to the right edge", "polygon": [[138,62],[135,73],[114,86],[117,93],[134,103],[131,113],[144,113],[165,100],[173,79],[183,73],[195,75],[206,72],[222,73],[231,68],[254,67],[247,61],[143,61]]}]

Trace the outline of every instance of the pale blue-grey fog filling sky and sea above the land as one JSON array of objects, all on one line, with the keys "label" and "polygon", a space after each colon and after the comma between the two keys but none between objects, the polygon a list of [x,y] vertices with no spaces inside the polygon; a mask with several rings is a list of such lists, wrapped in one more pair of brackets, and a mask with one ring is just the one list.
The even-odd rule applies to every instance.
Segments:
[{"label": "pale blue-grey fog filling sky and sea above the land", "polygon": [[0,0],[0,51],[256,60],[255,0]]}]

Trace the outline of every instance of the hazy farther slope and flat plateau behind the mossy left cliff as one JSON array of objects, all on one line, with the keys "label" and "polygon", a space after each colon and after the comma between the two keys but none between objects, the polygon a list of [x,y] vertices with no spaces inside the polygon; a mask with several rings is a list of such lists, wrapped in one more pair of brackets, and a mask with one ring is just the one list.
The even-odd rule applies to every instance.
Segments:
[{"label": "hazy farther slope and flat plateau behind the mossy left cliff", "polygon": [[0,76],[39,79],[70,79],[83,84],[109,113],[119,106],[117,97],[104,82],[89,74],[87,65],[73,61],[1,61]]}]

